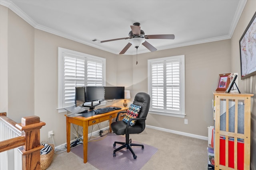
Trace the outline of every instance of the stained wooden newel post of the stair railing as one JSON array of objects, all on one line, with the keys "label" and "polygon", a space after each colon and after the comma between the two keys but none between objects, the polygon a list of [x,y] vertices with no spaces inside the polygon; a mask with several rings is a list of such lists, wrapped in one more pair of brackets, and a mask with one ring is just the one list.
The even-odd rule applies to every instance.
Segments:
[{"label": "stained wooden newel post of the stair railing", "polygon": [[19,148],[22,153],[22,170],[40,170],[40,129],[46,123],[40,121],[38,116],[22,117],[21,123],[16,127],[25,137],[25,145]]}]

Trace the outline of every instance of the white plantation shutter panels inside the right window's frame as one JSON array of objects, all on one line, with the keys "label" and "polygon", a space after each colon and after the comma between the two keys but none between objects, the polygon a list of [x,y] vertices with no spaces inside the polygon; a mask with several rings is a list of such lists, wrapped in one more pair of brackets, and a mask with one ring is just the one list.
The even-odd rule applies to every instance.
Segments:
[{"label": "white plantation shutter panels inside the right window's frame", "polygon": [[180,59],[149,60],[151,111],[181,114]]}]

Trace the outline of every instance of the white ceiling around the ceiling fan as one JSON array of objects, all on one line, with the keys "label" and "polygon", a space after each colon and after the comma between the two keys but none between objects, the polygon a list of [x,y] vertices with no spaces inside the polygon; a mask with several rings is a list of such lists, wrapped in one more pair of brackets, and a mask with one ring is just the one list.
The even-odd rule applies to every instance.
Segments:
[{"label": "white ceiling around the ceiling fan", "polygon": [[[140,22],[145,35],[174,34],[175,39],[147,39],[158,50],[230,39],[246,0],[0,0],[36,29],[119,54],[130,25]],[[98,39],[99,41],[92,41]],[[141,46],[139,53],[150,52]],[[125,55],[136,54],[131,46]]]}]

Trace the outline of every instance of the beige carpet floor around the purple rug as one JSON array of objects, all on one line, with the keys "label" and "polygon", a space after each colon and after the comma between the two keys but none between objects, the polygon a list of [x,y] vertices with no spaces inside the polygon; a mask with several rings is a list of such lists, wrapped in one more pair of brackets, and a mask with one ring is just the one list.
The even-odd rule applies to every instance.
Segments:
[{"label": "beige carpet floor around the purple rug", "polygon": [[[142,133],[130,135],[158,149],[142,170],[207,170],[208,141],[146,128]],[[98,170],[72,152],[54,154],[48,170]],[[114,170],[114,165],[113,165]]]}]

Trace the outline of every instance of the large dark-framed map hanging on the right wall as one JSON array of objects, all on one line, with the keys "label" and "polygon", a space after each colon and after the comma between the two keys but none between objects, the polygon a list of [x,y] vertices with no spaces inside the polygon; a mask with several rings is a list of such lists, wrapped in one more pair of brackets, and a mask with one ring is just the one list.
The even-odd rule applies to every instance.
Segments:
[{"label": "large dark-framed map hanging on the right wall", "polygon": [[241,79],[256,75],[256,12],[239,40]]}]

